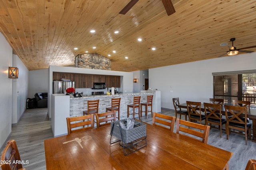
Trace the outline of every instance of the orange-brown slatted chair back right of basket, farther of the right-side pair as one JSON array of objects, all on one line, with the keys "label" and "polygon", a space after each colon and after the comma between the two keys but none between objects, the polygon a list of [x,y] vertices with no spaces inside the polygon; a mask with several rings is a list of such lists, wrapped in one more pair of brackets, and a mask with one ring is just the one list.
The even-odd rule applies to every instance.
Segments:
[{"label": "orange-brown slatted chair back right of basket, farther of the right-side pair", "polygon": [[153,113],[153,125],[162,127],[164,129],[168,129],[173,132],[174,130],[174,123],[176,117],[163,115],[160,113]]}]

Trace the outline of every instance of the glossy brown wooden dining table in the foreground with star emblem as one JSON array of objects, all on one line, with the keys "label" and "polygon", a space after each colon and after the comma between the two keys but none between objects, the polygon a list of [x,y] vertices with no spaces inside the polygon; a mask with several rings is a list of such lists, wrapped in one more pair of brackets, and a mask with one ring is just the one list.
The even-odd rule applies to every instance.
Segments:
[{"label": "glossy brown wooden dining table in the foreground with star emblem", "polygon": [[47,170],[223,170],[232,152],[146,123],[147,146],[124,156],[110,125],[44,141]]}]

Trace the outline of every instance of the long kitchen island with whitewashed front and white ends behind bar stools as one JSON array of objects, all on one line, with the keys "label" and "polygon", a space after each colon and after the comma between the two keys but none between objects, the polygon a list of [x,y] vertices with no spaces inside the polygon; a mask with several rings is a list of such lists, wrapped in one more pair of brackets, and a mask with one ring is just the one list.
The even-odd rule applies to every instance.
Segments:
[{"label": "long kitchen island with whitewashed front and white ends behind bar stools", "polygon": [[[115,94],[115,95],[90,95],[83,96],[80,98],[69,98],[67,95],[52,94],[52,133],[54,137],[66,135],[67,125],[66,117],[77,117],[82,116],[83,111],[87,110],[88,100],[100,100],[99,102],[99,113],[106,112],[106,107],[111,106],[112,98],[121,98],[120,101],[120,119],[127,118],[127,105],[133,104],[134,96],[141,96],[140,103],[146,103],[147,96],[153,95],[152,111],[161,111],[161,92],[144,92],[144,93],[125,93],[125,94]],[[63,109],[66,108],[66,109]],[[68,109],[69,108],[69,109]],[[143,108],[144,110],[144,108]],[[131,109],[130,109],[131,111]],[[136,110],[137,112],[137,110]],[[144,116],[145,113],[142,113]],[[149,116],[150,113],[148,113]],[[135,115],[138,117],[138,114]],[[96,124],[95,124],[96,125]]]}]

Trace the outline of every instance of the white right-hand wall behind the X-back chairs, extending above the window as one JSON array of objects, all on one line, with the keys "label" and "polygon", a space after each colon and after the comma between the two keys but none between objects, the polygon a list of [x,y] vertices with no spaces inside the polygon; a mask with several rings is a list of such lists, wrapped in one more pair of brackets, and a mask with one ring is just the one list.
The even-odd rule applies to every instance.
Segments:
[{"label": "white right-hand wall behind the X-back chairs, extending above the window", "polygon": [[172,98],[176,97],[180,103],[209,102],[213,97],[213,72],[255,70],[255,63],[256,53],[250,53],[152,68],[149,87],[161,91],[163,108],[174,109]]}]

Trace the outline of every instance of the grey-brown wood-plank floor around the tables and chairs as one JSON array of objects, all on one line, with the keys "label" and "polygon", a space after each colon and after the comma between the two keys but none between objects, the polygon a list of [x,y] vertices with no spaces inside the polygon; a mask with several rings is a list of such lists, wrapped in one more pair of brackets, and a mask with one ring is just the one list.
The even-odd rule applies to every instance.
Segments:
[{"label": "grey-brown wood-plank floor around the tables and chairs", "polygon": [[[165,109],[162,109],[161,113],[175,116],[174,111]],[[152,124],[151,115],[148,115],[148,119],[143,116],[141,120]],[[176,125],[174,131],[176,131]],[[9,139],[16,140],[21,159],[29,161],[29,164],[23,165],[24,168],[27,170],[45,170],[44,139],[52,137],[51,121],[47,116],[47,108],[40,108],[27,109],[18,125],[12,127],[12,134]],[[245,145],[243,135],[231,133],[229,140],[227,140],[225,131],[222,131],[222,138],[220,138],[219,129],[212,128],[210,129],[208,144],[233,152],[229,161],[230,170],[244,170],[249,159],[256,159],[256,143],[248,139],[248,144]]]}]

